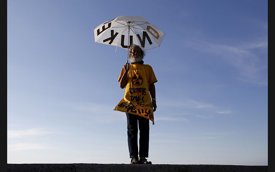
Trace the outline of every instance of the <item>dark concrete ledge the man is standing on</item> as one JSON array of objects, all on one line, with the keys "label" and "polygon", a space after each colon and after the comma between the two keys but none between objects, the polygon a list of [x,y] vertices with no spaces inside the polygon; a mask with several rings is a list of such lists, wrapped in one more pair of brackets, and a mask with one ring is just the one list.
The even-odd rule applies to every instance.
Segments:
[{"label": "dark concrete ledge the man is standing on", "polygon": [[7,164],[7,172],[267,172],[268,166],[169,164]]}]

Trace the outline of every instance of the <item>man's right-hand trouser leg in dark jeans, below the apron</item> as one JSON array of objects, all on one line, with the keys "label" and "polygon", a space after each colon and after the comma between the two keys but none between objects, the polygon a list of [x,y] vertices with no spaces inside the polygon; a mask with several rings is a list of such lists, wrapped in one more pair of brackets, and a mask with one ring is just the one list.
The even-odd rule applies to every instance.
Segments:
[{"label": "man's right-hand trouser leg in dark jeans, below the apron", "polygon": [[138,116],[139,157],[147,158],[149,152],[149,120]]}]

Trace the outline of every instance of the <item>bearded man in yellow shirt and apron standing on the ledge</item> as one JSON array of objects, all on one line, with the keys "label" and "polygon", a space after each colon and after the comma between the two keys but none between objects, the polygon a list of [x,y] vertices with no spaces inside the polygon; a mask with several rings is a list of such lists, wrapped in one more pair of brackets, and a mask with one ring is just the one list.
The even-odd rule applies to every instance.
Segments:
[{"label": "bearded man in yellow shirt and apron standing on the ledge", "polygon": [[[149,120],[153,122],[153,112],[156,111],[156,76],[150,65],[144,65],[145,52],[132,45],[129,50],[131,65],[123,66],[119,76],[119,86],[124,89],[124,98],[114,108],[126,112],[128,148],[131,164],[152,164],[147,161],[149,152]],[[150,94],[149,94],[150,93]],[[150,96],[151,95],[151,96]],[[140,131],[138,151],[138,128]],[[139,155],[139,158],[138,158]]]}]

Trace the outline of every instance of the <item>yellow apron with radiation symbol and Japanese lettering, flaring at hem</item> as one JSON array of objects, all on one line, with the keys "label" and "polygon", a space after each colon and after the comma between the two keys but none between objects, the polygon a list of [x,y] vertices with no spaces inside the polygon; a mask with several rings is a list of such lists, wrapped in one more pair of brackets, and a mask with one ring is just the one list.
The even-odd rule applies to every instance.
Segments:
[{"label": "yellow apron with radiation symbol and Japanese lettering, flaring at hem", "polygon": [[129,65],[125,95],[114,110],[142,116],[154,125],[153,105],[142,65],[141,70],[133,70],[132,65]]}]

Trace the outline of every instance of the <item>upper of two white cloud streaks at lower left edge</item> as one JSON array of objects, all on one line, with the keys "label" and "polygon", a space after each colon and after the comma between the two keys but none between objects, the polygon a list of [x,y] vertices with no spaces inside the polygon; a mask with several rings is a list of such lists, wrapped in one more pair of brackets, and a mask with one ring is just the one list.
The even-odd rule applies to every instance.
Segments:
[{"label": "upper of two white cloud streaks at lower left edge", "polygon": [[50,134],[51,131],[46,131],[43,128],[32,128],[27,130],[8,130],[7,135],[8,138],[18,138],[25,136],[33,136],[33,135],[45,135]]}]

